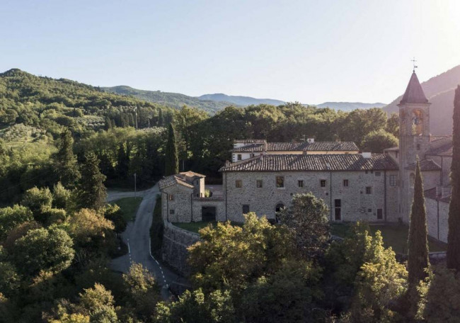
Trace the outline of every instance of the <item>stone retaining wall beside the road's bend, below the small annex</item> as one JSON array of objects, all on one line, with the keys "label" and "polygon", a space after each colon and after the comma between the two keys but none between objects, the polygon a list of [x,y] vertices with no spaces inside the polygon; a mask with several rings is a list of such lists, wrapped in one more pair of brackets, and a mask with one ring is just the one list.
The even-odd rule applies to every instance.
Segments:
[{"label": "stone retaining wall beside the road's bend, below the small annex", "polygon": [[180,227],[164,221],[163,246],[161,246],[163,261],[176,269],[180,275],[190,276],[187,248],[199,240],[199,234],[180,229]]}]

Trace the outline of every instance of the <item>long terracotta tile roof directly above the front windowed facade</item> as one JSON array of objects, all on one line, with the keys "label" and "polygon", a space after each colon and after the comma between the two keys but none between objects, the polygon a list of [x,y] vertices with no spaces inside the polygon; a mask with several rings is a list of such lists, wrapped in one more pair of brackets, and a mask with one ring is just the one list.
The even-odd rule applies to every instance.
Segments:
[{"label": "long terracotta tile roof directly above the front windowed facade", "polygon": [[386,154],[266,154],[232,164],[220,171],[367,171],[398,170]]}]

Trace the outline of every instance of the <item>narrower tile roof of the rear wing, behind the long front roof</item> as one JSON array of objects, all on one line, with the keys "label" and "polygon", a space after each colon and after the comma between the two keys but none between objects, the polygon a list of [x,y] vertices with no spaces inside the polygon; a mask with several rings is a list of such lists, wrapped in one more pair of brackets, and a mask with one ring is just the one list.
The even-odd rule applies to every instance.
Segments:
[{"label": "narrower tile roof of the rear wing, behind the long front roof", "polygon": [[231,152],[358,152],[355,142],[267,142],[234,148]]}]

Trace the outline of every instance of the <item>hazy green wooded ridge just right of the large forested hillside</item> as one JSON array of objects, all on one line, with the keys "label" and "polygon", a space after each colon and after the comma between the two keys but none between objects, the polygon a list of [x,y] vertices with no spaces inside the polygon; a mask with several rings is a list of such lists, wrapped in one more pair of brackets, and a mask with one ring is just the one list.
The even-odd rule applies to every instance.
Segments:
[{"label": "hazy green wooded ridge just right of the large forested hillside", "polygon": [[122,94],[125,96],[134,96],[141,100],[159,103],[163,106],[170,106],[171,108],[182,108],[183,106],[192,106],[194,108],[201,108],[209,113],[216,113],[226,106],[234,106],[234,103],[224,101],[209,101],[195,98],[194,96],[186,96],[185,94],[162,92],[162,91],[146,91],[133,89],[130,86],[120,85],[112,87],[101,87],[103,91]]}]

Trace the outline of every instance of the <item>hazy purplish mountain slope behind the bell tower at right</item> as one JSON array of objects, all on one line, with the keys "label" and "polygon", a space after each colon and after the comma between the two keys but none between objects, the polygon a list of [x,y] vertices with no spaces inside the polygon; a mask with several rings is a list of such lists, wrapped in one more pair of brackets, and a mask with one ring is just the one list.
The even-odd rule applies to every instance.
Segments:
[{"label": "hazy purplish mountain slope behind the bell tower at right", "polygon": [[[449,71],[423,82],[422,89],[430,106],[430,130],[433,135],[450,135],[452,133],[452,114],[454,111],[454,91],[460,84],[460,65]],[[387,113],[398,113],[397,104],[402,95],[388,106]]]}]

